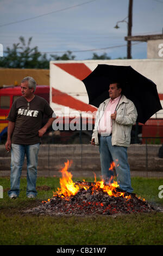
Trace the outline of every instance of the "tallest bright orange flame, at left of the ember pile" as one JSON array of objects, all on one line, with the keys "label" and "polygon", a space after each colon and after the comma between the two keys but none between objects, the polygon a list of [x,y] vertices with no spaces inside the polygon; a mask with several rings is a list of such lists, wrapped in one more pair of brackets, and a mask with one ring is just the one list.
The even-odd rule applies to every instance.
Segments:
[{"label": "tallest bright orange flame, at left of the ember pile", "polygon": [[53,196],[70,197],[74,196],[79,191],[79,186],[72,181],[72,174],[68,172],[68,168],[71,166],[69,160],[65,162],[65,167],[60,170],[62,178],[60,178],[60,188],[53,194]]}]

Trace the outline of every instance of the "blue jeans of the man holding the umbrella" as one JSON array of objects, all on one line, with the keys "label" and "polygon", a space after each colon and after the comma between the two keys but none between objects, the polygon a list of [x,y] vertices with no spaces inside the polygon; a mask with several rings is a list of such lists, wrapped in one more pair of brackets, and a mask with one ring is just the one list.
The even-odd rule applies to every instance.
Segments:
[{"label": "blue jeans of the man holding the umbrella", "polygon": [[107,184],[112,183],[113,170],[109,170],[111,162],[115,163],[117,184],[124,191],[133,192],[130,179],[130,167],[128,163],[127,148],[112,146],[111,136],[101,136],[99,144],[102,176]]}]

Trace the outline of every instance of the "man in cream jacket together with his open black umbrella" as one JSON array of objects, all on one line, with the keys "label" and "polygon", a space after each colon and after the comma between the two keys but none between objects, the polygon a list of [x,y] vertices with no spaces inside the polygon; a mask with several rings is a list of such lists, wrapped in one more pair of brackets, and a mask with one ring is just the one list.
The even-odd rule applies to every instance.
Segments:
[{"label": "man in cream jacket together with his open black umbrella", "polygon": [[162,109],[156,84],[131,66],[108,64],[98,64],[82,81],[89,104],[98,108],[91,144],[99,145],[104,181],[112,182],[109,169],[114,161],[118,185],[131,193],[127,160],[131,127],[135,122],[145,124]]}]

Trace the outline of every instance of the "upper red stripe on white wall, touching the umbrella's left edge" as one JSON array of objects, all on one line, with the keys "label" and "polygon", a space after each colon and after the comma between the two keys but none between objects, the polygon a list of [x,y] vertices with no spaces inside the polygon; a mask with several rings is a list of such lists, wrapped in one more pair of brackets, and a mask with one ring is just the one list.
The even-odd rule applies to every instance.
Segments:
[{"label": "upper red stripe on white wall, touching the umbrella's left edge", "polygon": [[83,80],[92,72],[84,63],[54,63],[54,65],[79,80]]}]

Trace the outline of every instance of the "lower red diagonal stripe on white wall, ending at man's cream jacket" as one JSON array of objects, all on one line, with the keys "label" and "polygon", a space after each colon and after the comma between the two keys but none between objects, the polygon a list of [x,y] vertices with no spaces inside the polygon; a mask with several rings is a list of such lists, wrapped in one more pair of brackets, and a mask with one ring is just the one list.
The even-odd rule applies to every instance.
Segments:
[{"label": "lower red diagonal stripe on white wall, ending at man's cream jacket", "polygon": [[78,111],[97,111],[96,107],[88,105],[83,101],[77,100],[74,97],[60,92],[60,90],[52,88],[52,101],[62,106],[70,107]]}]

